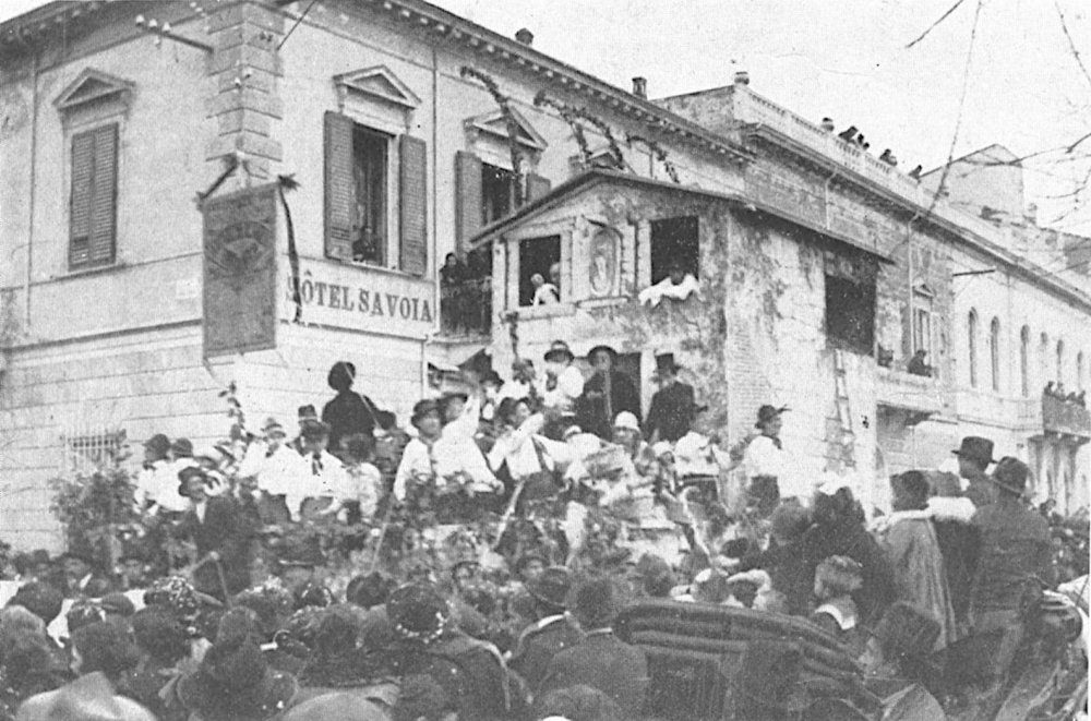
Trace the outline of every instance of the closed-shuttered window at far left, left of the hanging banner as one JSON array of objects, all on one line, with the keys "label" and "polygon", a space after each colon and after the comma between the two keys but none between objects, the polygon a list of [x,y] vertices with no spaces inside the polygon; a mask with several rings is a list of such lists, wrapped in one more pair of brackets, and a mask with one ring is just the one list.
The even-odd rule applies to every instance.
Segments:
[{"label": "closed-shuttered window at far left, left of the hanging banner", "polygon": [[118,201],[118,123],[72,136],[69,267],[113,263]]}]

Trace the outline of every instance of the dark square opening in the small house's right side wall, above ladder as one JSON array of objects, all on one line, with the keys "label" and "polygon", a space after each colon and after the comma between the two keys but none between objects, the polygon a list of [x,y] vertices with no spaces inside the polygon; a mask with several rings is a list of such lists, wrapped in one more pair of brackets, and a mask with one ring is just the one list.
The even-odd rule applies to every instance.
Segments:
[{"label": "dark square opening in the small house's right side wall, above ladder", "polygon": [[875,261],[826,254],[826,339],[835,347],[871,356],[875,348]]}]

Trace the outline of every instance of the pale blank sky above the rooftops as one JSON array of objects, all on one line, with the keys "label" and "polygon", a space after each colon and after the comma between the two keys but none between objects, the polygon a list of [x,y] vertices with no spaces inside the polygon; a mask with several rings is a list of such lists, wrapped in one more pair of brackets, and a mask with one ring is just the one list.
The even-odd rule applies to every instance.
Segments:
[{"label": "pale blank sky above the rooftops", "polygon": [[[1091,190],[1070,195],[1091,185],[1091,139],[1064,151],[1091,132],[1087,0],[961,0],[909,48],[957,0],[433,2],[503,35],[528,27],[537,49],[619,87],[645,76],[652,98],[746,70],[751,89],[838,130],[856,125],[906,169],[993,143],[1035,154],[1024,182],[1039,221],[1091,235]],[[0,0],[0,21],[40,4]]]}]

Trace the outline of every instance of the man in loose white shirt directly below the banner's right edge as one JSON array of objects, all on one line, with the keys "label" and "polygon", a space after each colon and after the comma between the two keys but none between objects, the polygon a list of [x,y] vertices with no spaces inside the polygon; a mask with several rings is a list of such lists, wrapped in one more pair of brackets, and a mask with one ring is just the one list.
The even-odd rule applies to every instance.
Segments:
[{"label": "man in loose white shirt directly below the banner's right edge", "polygon": [[290,518],[287,496],[295,495],[310,469],[302,456],[285,443],[287,433],[275,418],[265,419],[262,436],[247,447],[238,477],[257,479],[257,488],[265,494],[264,502],[259,502],[262,519],[268,524],[284,524]]}]

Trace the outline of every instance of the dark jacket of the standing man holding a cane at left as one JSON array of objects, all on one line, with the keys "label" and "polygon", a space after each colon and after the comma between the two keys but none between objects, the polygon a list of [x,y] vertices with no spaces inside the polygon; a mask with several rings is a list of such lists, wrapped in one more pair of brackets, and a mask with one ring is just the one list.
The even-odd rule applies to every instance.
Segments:
[{"label": "dark jacket of the standing man holding a cane at left", "polygon": [[[219,554],[229,593],[238,593],[250,586],[250,568],[247,554],[247,525],[233,498],[215,496],[208,498],[204,522],[197,519],[192,508],[185,512],[178,527],[179,536],[189,538],[197,546],[197,557],[215,551]],[[199,591],[221,598],[216,565],[206,563],[194,573],[194,585]]]}]

